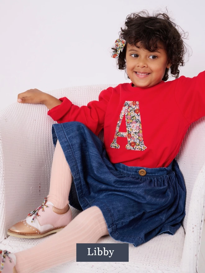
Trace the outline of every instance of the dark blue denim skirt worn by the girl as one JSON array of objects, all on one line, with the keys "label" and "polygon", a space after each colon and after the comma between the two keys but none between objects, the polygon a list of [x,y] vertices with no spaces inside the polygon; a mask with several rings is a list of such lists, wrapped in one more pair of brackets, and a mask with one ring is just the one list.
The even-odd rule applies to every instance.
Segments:
[{"label": "dark blue denim skirt worn by the girl", "polygon": [[175,159],[162,168],[111,163],[99,137],[77,121],[52,124],[52,139],[73,176],[69,204],[80,211],[99,207],[113,239],[137,247],[180,228],[186,187]]}]

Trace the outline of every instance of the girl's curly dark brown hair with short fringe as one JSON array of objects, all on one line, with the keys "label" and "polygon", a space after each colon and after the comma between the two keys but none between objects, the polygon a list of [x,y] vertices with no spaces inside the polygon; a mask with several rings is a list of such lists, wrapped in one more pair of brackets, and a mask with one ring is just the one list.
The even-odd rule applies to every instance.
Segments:
[{"label": "girl's curly dark brown hair with short fringe", "polygon": [[[167,10],[167,9],[166,9]],[[140,11],[139,13],[131,13],[126,17],[126,29],[121,27],[120,36],[126,43],[123,51],[120,51],[117,58],[118,69],[126,69],[126,47],[127,43],[135,45],[140,42],[143,48],[148,51],[155,51],[158,49],[158,43],[162,43],[169,60],[171,61],[171,75],[179,78],[179,65],[184,66],[184,53],[186,47],[182,40],[181,34],[175,28],[176,24],[170,20],[170,17],[165,13],[157,13],[150,16],[147,10]],[[143,13],[145,16],[140,16]],[[132,16],[133,15],[133,16]],[[162,18],[160,18],[162,16]],[[112,52],[116,53],[117,50],[112,47]],[[125,70],[126,71],[126,70]],[[167,81],[169,69],[166,68],[165,74],[162,78]],[[128,76],[129,78],[129,76]],[[130,78],[129,78],[130,79]]]}]

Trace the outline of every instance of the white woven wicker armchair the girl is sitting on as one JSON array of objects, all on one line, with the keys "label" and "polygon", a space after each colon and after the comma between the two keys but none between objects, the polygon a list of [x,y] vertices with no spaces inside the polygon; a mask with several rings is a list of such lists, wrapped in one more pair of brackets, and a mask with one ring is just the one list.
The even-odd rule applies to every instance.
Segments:
[{"label": "white woven wicker armchair the girl is sitting on", "polygon": [[[47,92],[67,96],[75,105],[98,100],[110,85],[68,87]],[[0,111],[0,249],[15,253],[46,240],[20,239],[7,229],[25,219],[48,195],[54,145],[51,128],[56,123],[42,104],[15,102]],[[103,141],[103,130],[99,134]],[[161,234],[138,247],[129,245],[129,262],[66,262],[43,272],[195,273],[205,203],[205,117],[191,124],[176,156],[184,175],[187,197],[183,226],[174,235]],[[79,213],[71,207],[73,218]],[[69,236],[69,235],[68,235]],[[103,236],[98,243],[119,243]],[[105,271],[103,271],[105,270]]]}]

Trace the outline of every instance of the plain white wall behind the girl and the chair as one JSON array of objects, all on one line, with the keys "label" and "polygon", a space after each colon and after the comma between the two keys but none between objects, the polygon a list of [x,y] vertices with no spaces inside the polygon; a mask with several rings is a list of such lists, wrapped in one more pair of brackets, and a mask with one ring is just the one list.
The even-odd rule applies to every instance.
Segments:
[{"label": "plain white wall behind the girl and the chair", "polygon": [[180,76],[197,76],[205,70],[204,1],[0,0],[0,110],[28,89],[130,83],[111,58],[120,27],[132,12],[166,7],[187,38]]}]

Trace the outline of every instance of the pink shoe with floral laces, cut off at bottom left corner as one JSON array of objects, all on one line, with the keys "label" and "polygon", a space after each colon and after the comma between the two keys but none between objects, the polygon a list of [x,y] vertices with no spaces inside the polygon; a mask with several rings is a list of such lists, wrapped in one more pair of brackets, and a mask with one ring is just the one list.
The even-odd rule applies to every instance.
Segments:
[{"label": "pink shoe with floral laces, cut off at bottom left corner", "polygon": [[13,273],[16,256],[7,250],[0,249],[0,264],[0,273]]}]

